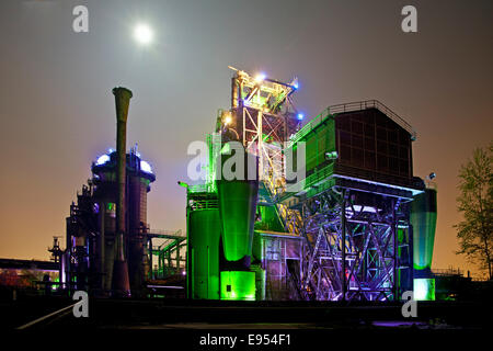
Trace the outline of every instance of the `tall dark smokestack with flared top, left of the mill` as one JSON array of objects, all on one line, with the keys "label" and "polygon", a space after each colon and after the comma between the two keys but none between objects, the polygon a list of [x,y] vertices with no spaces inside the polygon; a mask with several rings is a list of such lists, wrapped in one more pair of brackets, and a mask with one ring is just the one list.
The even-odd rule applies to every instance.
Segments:
[{"label": "tall dark smokestack with flared top, left of the mill", "polygon": [[116,256],[113,267],[113,291],[116,295],[130,295],[128,264],[125,260],[124,242],[126,238],[126,144],[127,116],[131,91],[117,87],[113,89],[116,104],[116,177],[118,183],[118,199],[116,203]]}]

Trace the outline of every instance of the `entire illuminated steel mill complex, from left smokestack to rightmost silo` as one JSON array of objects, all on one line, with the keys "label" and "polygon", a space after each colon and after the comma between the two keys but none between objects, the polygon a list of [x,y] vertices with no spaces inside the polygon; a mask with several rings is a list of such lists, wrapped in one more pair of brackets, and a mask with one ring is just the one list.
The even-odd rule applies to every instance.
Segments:
[{"label": "entire illuminated steel mill complex, from left smokestack to rightmost silo", "polygon": [[376,100],[303,123],[296,78],[230,68],[231,105],[207,135],[207,162],[198,180],[179,182],[186,234],[150,229],[156,176],[136,148],[126,152],[131,92],[113,90],[116,151],[92,163],[66,249],[50,249],[58,286],[232,301],[395,301],[414,290],[434,299],[436,190],[413,174],[413,128]]}]

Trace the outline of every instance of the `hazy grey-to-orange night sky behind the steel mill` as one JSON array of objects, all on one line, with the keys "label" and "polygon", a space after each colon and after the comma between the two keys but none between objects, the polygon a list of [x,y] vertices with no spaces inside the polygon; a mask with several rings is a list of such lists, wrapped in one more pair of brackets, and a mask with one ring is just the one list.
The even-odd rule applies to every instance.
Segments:
[{"label": "hazy grey-to-orange night sky behind the steel mill", "polygon": [[[72,9],[89,9],[89,33]],[[401,9],[417,9],[417,33]],[[154,31],[138,45],[136,23]],[[457,258],[457,173],[493,138],[493,1],[10,1],[0,2],[0,257],[47,259],[51,236],[115,145],[112,88],[133,90],[128,147],[157,173],[153,228],[185,228],[186,147],[229,106],[228,65],[297,76],[307,116],[377,99],[417,132],[414,174],[437,173],[434,268]]]}]

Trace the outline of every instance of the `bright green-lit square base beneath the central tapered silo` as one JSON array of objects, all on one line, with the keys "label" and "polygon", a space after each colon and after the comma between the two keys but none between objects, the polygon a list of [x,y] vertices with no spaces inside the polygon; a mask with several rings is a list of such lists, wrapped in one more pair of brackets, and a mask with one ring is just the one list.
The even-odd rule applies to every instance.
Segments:
[{"label": "bright green-lit square base beneath the central tapered silo", "polygon": [[223,271],[221,299],[255,301],[255,272]]}]

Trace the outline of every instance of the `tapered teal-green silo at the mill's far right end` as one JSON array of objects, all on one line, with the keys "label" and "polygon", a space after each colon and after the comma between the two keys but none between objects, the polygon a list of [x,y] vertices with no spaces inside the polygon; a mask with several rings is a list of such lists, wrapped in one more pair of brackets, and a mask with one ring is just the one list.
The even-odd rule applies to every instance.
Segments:
[{"label": "tapered teal-green silo at the mill's far right end", "polygon": [[436,190],[426,189],[412,202],[414,278],[431,274],[436,228]]}]

